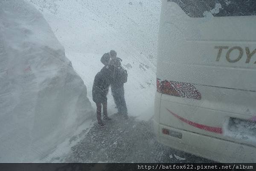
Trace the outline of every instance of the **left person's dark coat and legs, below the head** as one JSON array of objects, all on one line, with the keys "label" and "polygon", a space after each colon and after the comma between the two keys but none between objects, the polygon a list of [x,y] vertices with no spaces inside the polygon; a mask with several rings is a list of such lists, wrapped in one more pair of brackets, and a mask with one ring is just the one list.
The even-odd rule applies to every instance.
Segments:
[{"label": "left person's dark coat and legs, below the head", "polygon": [[107,112],[107,95],[109,86],[113,80],[113,66],[105,66],[98,72],[93,81],[93,101],[96,103],[97,120],[100,126],[104,126],[101,119],[101,110],[103,106],[103,119],[111,120]]}]

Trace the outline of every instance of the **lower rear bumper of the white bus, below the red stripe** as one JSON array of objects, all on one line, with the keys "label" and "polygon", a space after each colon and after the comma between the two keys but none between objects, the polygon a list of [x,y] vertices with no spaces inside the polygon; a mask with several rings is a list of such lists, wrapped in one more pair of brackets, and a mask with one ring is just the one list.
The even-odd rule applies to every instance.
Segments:
[{"label": "lower rear bumper of the white bus, below the red stripe", "polygon": [[[169,134],[164,134],[163,129],[169,130]],[[163,145],[216,162],[256,162],[256,147],[253,146],[172,128],[155,121],[154,133]]]}]

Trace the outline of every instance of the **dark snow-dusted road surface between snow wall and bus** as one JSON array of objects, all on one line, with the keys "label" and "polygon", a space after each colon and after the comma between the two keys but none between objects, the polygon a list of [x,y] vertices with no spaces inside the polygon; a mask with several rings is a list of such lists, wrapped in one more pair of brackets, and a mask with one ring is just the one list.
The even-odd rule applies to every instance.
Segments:
[{"label": "dark snow-dusted road surface between snow wall and bus", "polygon": [[105,127],[95,124],[65,162],[210,162],[160,145],[151,121],[111,117]]}]

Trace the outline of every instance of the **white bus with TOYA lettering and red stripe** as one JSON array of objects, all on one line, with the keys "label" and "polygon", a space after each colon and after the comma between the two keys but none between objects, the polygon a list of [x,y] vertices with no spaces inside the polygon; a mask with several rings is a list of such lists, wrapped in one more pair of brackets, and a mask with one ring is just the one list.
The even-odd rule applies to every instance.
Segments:
[{"label": "white bus with TOYA lettering and red stripe", "polygon": [[256,1],[162,0],[154,130],[218,162],[256,162]]}]

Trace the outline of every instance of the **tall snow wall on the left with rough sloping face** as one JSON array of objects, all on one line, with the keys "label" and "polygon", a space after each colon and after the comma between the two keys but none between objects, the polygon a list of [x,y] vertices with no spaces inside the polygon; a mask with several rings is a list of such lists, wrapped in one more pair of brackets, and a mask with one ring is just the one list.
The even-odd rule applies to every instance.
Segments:
[{"label": "tall snow wall on the left with rough sloping face", "polygon": [[0,0],[0,162],[40,161],[91,115],[44,17],[23,0]]}]

